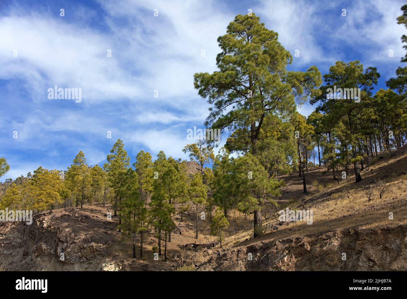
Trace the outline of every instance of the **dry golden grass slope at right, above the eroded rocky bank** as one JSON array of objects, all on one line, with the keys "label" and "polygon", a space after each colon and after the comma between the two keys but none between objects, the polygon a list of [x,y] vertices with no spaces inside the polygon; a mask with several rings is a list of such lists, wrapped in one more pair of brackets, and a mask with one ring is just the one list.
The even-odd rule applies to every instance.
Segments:
[{"label": "dry golden grass slope at right, above the eroded rocky bank", "polygon": [[[363,180],[357,184],[354,183],[353,175],[348,175],[346,180],[339,180],[338,184],[326,177],[328,173],[324,175],[322,169],[314,168],[306,173],[308,179],[312,180],[312,185],[308,186],[308,195],[302,193],[298,175],[283,176],[286,186],[282,188],[282,197],[278,199],[279,208],[302,210],[306,207],[313,210],[313,224],[307,225],[299,221],[288,223],[280,226],[277,231],[271,230],[264,237],[256,239],[252,238],[252,227],[249,227],[246,231],[226,238],[225,246],[234,247],[261,240],[306,236],[345,228],[349,229],[350,234],[354,234],[359,228],[406,223],[407,175],[403,171],[407,169],[407,148],[399,155],[385,153],[383,157],[376,164],[365,168],[362,172]],[[321,186],[325,186],[323,190]],[[370,201],[364,194],[366,189],[370,190],[368,186],[371,187]],[[382,198],[379,189],[385,190]],[[394,220],[389,220],[389,212],[394,214]],[[278,214],[269,217],[263,225],[278,223],[277,216]]]}]

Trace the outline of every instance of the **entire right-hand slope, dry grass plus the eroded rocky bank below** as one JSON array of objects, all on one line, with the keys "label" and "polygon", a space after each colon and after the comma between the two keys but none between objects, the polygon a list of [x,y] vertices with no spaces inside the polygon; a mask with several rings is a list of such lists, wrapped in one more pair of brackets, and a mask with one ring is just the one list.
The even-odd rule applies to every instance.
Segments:
[{"label": "entire right-hand slope, dry grass plus the eroded rocky bank below", "polygon": [[[304,194],[298,174],[281,176],[286,186],[280,208],[263,212],[269,218],[265,235],[254,239],[247,229],[230,236],[199,270],[407,270],[406,171],[404,146],[379,155],[357,184],[352,175],[338,184],[326,168],[314,168],[306,173],[309,193]],[[313,181],[322,190],[311,186]],[[381,182],[386,188],[382,199],[375,189]],[[276,212],[285,207],[313,210],[312,225],[281,222]]]}]

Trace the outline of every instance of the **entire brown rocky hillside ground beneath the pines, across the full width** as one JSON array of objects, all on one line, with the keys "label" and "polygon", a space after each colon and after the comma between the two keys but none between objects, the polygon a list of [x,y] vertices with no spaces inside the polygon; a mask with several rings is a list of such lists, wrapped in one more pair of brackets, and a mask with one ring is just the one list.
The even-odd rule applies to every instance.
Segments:
[{"label": "entire brown rocky hillside ground beneath the pines, across the full width", "polygon": [[[199,171],[195,162],[188,165],[191,173]],[[407,270],[406,169],[404,146],[372,161],[357,184],[352,177],[338,183],[325,173],[326,168],[313,168],[306,173],[309,194],[303,194],[297,174],[282,176],[286,185],[278,199],[280,206],[263,210],[263,236],[252,238],[251,217],[233,211],[223,248],[184,246],[216,240],[209,234],[209,217],[199,221],[199,238],[195,239],[191,207],[182,221],[180,215],[174,218],[177,228],[167,243],[168,260],[164,253],[154,259],[153,231],[145,236],[143,260],[133,259],[130,238],[117,230],[118,217],[107,218],[112,210],[109,205],[56,209],[51,215],[35,215],[33,225],[0,222],[0,267],[31,271],[173,271],[181,265],[199,271]],[[374,191],[369,201],[366,190],[383,184],[382,198]],[[280,221],[277,212],[286,207],[313,210],[313,224]]]}]

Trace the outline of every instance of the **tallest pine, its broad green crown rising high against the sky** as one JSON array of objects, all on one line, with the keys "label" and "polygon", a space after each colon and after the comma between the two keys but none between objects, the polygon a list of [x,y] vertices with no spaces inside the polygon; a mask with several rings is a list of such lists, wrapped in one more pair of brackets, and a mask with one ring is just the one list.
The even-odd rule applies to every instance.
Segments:
[{"label": "tallest pine, its broad green crown rising high against the sky", "polygon": [[[278,42],[278,34],[254,14],[237,15],[218,43],[219,71],[194,75],[195,89],[211,105],[205,126],[221,132],[239,130],[246,134],[239,137],[239,144],[249,144],[250,153],[258,155],[265,119],[290,117],[295,101],[304,102],[321,84],[321,74],[315,66],[306,72],[288,72],[292,56]],[[259,213],[254,209],[255,226],[261,220]]]}]

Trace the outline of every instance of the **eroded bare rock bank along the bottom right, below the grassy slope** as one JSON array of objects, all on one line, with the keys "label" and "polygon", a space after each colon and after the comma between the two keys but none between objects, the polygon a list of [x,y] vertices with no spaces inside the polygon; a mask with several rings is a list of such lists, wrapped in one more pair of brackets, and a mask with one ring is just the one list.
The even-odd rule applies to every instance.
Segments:
[{"label": "eroded bare rock bank along the bottom right, below the grassy slope", "polygon": [[322,235],[262,241],[247,247],[218,250],[207,262],[201,264],[199,269],[209,271],[405,271],[407,270],[407,225],[335,230]]}]

